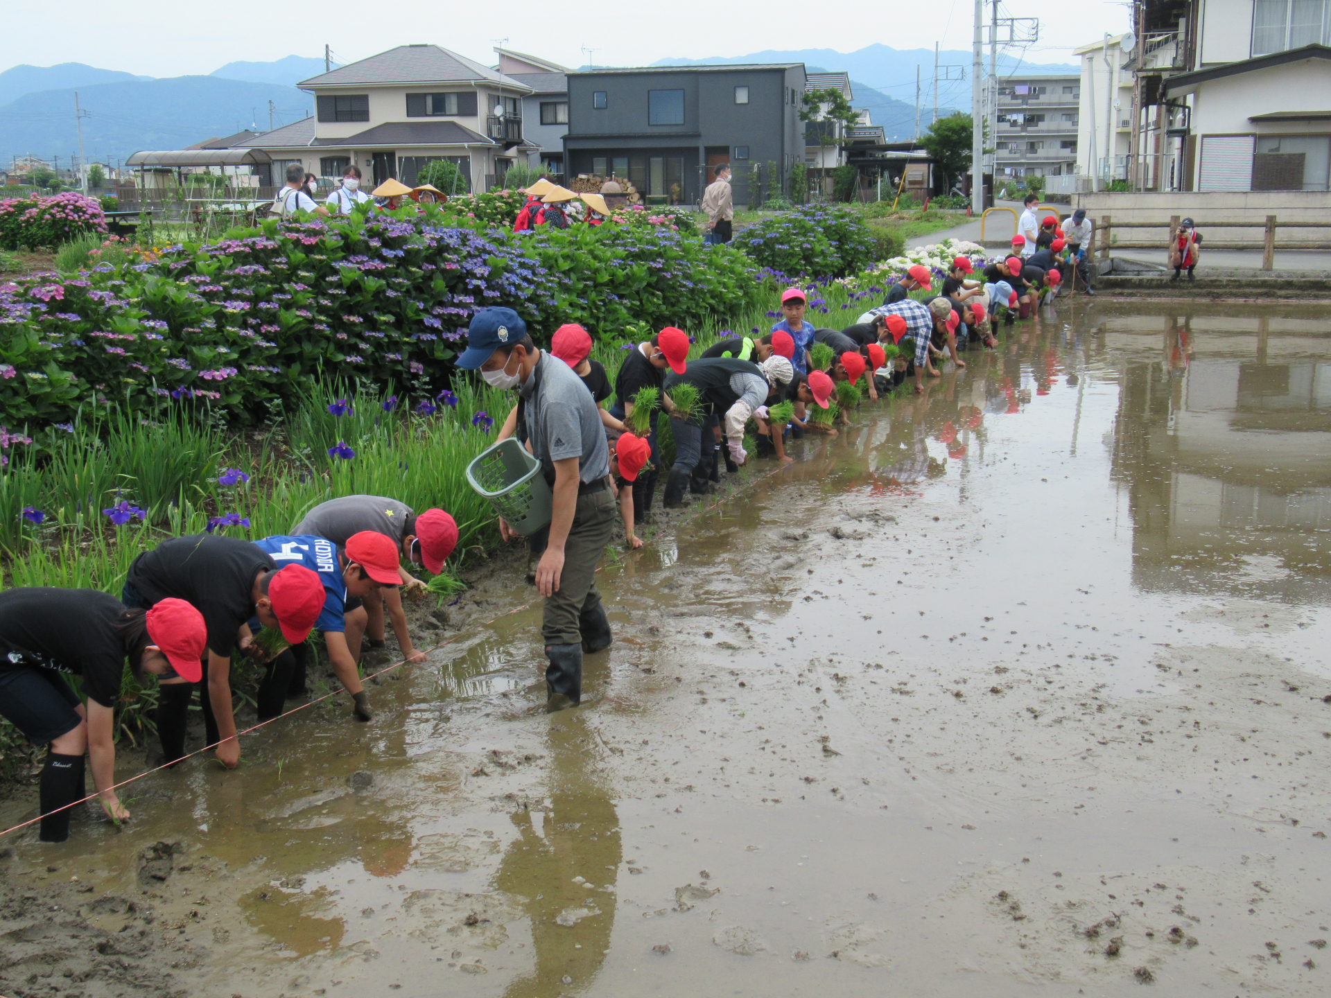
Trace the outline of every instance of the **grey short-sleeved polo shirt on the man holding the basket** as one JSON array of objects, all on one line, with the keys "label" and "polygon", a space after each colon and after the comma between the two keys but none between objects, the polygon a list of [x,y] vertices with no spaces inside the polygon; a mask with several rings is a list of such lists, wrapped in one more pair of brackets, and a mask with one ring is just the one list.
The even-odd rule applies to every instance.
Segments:
[{"label": "grey short-sleeved polo shirt on the man holding the basket", "polygon": [[596,402],[574,369],[544,350],[519,389],[526,401],[527,436],[547,479],[555,462],[578,458],[578,476],[595,482],[610,474],[610,447]]}]

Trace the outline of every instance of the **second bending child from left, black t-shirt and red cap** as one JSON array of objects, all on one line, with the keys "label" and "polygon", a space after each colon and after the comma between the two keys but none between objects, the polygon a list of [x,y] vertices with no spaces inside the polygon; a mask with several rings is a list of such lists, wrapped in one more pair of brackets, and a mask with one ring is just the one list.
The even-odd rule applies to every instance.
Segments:
[{"label": "second bending child from left, black t-shirt and red cap", "polygon": [[[264,627],[280,627],[289,644],[309,637],[323,611],[323,584],[303,566],[278,568],[254,544],[241,538],[192,534],[164,540],[129,566],[120,601],[150,609],[166,599],[182,599],[204,615],[208,655],[201,672],[206,745],[216,745],[218,761],[234,769],[241,761],[232,712],[232,651],[261,649],[246,625],[257,616]],[[198,680],[180,676],[158,684],[157,735],[170,765],[185,754],[189,701]]]}]

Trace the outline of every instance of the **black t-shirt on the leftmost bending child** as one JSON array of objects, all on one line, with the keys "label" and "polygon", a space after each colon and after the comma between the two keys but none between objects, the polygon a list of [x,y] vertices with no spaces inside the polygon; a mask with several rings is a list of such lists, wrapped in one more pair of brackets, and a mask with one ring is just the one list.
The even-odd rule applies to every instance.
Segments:
[{"label": "black t-shirt on the leftmost bending child", "polygon": [[98,589],[0,592],[0,669],[72,672],[83,676],[92,700],[114,707],[125,671],[125,648],[116,636],[124,612],[120,600]]}]

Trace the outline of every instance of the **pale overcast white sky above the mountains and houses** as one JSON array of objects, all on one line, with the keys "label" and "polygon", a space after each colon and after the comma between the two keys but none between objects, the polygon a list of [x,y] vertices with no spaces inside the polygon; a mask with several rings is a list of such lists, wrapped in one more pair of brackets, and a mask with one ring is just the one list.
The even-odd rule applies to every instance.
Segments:
[{"label": "pale overcast white sky above the mountains and houses", "polygon": [[[841,0],[832,5],[700,3],[560,5],[535,0],[502,4],[303,4],[228,0],[64,0],[53,21],[44,4],[13,4],[0,35],[0,71],[20,63],[88,63],[144,76],[210,73],[236,60],[322,56],[327,43],[351,63],[394,45],[434,43],[492,63],[508,48],[570,67],[647,65],[659,59],[737,56],[763,49],[831,48],[852,52],[873,43],[896,49],[970,47],[973,0]],[[815,12],[825,11],[823,19]],[[1070,61],[1071,49],[1102,32],[1127,28],[1127,7],[1101,0],[1009,0],[1000,16],[1038,17],[1032,63]],[[827,67],[835,69],[836,67]],[[873,81],[865,81],[872,85]]]}]

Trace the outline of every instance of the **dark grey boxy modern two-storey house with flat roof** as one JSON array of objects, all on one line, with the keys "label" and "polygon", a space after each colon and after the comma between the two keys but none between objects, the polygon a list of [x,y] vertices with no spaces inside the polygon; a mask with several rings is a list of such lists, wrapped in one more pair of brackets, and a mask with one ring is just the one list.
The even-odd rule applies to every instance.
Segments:
[{"label": "dark grey boxy modern two-storey house with flat roof", "polygon": [[803,63],[594,69],[567,81],[568,177],[627,177],[648,204],[695,204],[728,162],[735,201],[748,204],[753,165],[767,193],[804,162]]}]

